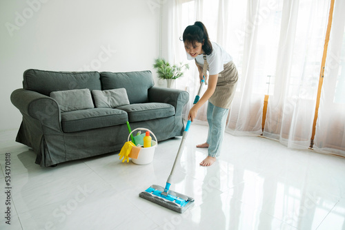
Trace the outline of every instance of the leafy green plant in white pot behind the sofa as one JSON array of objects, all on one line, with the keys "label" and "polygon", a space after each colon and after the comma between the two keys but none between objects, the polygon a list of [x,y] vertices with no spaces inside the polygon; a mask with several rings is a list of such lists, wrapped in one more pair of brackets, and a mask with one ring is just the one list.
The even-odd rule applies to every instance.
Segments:
[{"label": "leafy green plant in white pot behind the sofa", "polygon": [[155,59],[153,67],[157,69],[159,79],[166,79],[169,88],[175,79],[184,75],[184,70],[189,70],[188,64],[182,65],[180,62],[179,65],[170,65],[168,61],[161,58]]}]

